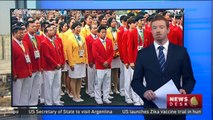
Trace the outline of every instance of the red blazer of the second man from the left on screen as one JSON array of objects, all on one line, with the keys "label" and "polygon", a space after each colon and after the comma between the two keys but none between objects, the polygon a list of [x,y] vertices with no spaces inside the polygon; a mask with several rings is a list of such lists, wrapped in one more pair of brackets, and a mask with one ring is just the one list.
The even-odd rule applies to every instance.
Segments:
[{"label": "red blazer of the second man from the left on screen", "polygon": [[29,56],[32,63],[32,72],[37,72],[41,70],[41,56],[39,59],[35,59],[34,51],[38,49],[40,52],[41,47],[41,39],[38,35],[35,35],[36,41],[37,41],[37,48],[34,47],[34,44],[30,40],[30,36],[28,33],[24,35],[23,41],[25,41],[29,47]]}]

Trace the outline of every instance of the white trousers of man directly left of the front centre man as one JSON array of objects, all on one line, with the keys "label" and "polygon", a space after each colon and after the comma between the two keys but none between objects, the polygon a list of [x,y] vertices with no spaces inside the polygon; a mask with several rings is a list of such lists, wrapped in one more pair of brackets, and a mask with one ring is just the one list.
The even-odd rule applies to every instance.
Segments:
[{"label": "white trousers of man directly left of the front centre man", "polygon": [[95,65],[93,65],[92,68],[87,66],[87,74],[88,74],[88,93],[89,95],[95,94],[94,93],[94,87],[95,87],[95,75],[96,75],[96,69]]}]

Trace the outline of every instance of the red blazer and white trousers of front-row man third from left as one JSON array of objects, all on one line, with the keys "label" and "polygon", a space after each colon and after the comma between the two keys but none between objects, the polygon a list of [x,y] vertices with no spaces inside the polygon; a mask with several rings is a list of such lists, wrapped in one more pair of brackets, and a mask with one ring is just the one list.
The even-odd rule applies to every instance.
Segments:
[{"label": "red blazer and white trousers of front-row man third from left", "polygon": [[61,65],[57,41],[46,37],[41,43],[41,65],[44,76],[44,96],[46,105],[60,105]]}]

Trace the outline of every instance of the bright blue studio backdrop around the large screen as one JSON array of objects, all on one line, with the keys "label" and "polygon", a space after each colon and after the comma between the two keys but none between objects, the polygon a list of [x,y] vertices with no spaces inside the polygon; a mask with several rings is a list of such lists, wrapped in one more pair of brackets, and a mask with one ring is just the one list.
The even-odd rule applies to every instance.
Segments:
[{"label": "bright blue studio backdrop around the large screen", "polygon": [[[187,115],[187,120],[212,120],[211,30],[212,1],[37,1],[37,9],[184,9],[184,46],[187,48],[196,79],[193,94],[203,95],[201,115]],[[142,115],[43,115],[43,119],[143,120]]]}]

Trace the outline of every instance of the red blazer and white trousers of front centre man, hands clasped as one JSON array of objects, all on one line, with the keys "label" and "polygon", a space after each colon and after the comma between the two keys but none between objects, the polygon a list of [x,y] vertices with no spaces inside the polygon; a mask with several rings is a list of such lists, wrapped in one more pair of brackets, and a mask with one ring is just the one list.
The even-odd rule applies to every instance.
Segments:
[{"label": "red blazer and white trousers of front centre man, hands clasped", "polygon": [[[113,45],[112,41],[108,38],[102,40],[98,38],[92,47],[92,52],[95,59],[96,68],[96,80],[95,80],[95,100],[98,104],[102,104],[103,101],[111,103],[108,100],[111,84],[111,62],[113,59]],[[108,68],[103,66],[103,63],[107,62],[109,64]],[[103,91],[103,101],[102,93]]]}]

